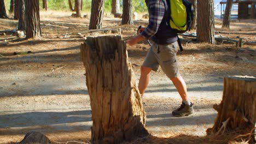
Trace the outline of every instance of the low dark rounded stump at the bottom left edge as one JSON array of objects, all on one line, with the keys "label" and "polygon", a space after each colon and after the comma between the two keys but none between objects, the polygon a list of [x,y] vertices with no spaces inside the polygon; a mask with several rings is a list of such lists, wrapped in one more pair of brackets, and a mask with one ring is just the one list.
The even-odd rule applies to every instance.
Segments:
[{"label": "low dark rounded stump at the bottom left edge", "polygon": [[20,142],[20,144],[32,144],[32,143],[51,143],[51,141],[45,135],[37,132],[37,131],[30,131],[26,134],[24,139]]}]

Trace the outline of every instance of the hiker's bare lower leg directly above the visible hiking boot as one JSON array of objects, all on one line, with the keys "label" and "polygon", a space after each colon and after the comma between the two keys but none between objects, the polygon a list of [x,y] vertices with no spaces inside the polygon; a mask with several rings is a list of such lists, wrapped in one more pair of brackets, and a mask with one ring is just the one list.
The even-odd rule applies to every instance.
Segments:
[{"label": "hiker's bare lower leg directly above the visible hiking boot", "polygon": [[179,95],[181,95],[182,100],[188,100],[188,92],[185,81],[182,76],[174,77],[171,79],[173,84],[176,86]]}]

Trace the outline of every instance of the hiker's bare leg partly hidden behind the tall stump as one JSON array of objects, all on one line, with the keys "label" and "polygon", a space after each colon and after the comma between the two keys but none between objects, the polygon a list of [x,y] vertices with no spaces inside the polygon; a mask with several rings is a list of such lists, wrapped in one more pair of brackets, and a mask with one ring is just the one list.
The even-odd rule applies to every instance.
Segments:
[{"label": "hiker's bare leg partly hidden behind the tall stump", "polygon": [[141,77],[139,77],[138,89],[141,96],[144,94],[146,88],[148,87],[150,71],[152,68],[141,66]]}]

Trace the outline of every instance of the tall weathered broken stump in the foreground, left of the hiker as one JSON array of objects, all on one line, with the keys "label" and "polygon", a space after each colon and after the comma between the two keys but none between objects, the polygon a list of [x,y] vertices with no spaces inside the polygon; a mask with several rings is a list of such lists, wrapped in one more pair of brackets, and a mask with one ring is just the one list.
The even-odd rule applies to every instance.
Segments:
[{"label": "tall weathered broken stump in the foreground, left of the hiker", "polygon": [[91,101],[92,143],[147,136],[146,113],[120,35],[88,37],[80,50]]}]

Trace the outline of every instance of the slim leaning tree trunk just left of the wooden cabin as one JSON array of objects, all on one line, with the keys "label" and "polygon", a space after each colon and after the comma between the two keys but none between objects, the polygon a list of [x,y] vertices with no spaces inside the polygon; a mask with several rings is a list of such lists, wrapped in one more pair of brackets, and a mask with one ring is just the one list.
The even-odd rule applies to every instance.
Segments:
[{"label": "slim leaning tree trunk just left of the wooden cabin", "polygon": [[223,17],[223,22],[222,22],[222,28],[229,29],[232,4],[233,4],[233,0],[227,1],[226,8],[225,8],[225,14]]}]

